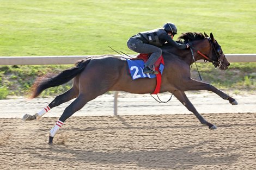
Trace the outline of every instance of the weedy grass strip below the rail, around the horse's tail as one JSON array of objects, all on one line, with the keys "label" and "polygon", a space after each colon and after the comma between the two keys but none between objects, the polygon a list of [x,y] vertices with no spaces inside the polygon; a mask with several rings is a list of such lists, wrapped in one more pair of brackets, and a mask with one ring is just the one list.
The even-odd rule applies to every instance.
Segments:
[{"label": "weedy grass strip below the rail, around the horse's tail", "polygon": [[[48,65],[36,66],[2,66],[0,67],[0,82],[4,86],[3,91],[9,91],[10,96],[27,96],[36,77],[46,73],[59,73],[72,65]],[[50,88],[42,93],[42,96],[52,96],[68,90],[72,86],[70,81],[62,86]],[[7,88],[8,87],[8,88]],[[0,87],[1,88],[1,87]]]}]

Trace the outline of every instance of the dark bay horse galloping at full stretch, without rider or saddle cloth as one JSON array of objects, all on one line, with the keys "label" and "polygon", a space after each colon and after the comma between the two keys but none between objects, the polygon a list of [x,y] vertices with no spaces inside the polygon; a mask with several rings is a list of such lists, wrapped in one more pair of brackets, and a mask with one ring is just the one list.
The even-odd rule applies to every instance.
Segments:
[{"label": "dark bay horse galloping at full stretch, without rider or saddle cloth", "polygon": [[[184,42],[181,40],[184,40]],[[212,33],[210,37],[205,33],[204,35],[202,33],[184,33],[179,37],[179,41],[181,43],[190,43],[191,49],[181,50],[170,47],[168,44],[161,47],[164,70],[160,93],[167,91],[173,93],[188,110],[193,112],[200,123],[207,125],[209,129],[216,129],[216,125],[206,121],[194,108],[190,100],[188,100],[185,91],[208,90],[228,100],[232,105],[237,104],[237,102],[234,98],[231,98],[216,87],[191,79],[190,66],[193,62],[200,59],[212,62],[220,70],[226,70],[230,64]],[[97,96],[103,95],[107,91],[126,91],[138,94],[154,92],[156,79],[143,78],[132,80],[127,68],[125,58],[116,56],[88,57],[78,61],[74,67],[64,70],[55,77],[39,78],[33,85],[31,98],[39,96],[42,91],[49,87],[62,85],[71,79],[74,79],[74,82],[71,89],[54,98],[42,111],[35,115],[26,114],[23,116],[23,120],[39,119],[50,109],[76,98],[64,110],[59,121],[51,129],[49,143],[52,143],[54,135],[63,122]]]}]

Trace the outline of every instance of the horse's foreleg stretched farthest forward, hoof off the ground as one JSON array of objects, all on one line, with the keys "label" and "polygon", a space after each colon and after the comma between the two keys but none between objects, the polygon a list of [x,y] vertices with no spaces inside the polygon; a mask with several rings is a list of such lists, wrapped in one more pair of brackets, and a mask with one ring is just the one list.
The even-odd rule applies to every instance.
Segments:
[{"label": "horse's foreleg stretched farthest forward, hoof off the ground", "polygon": [[184,83],[185,88],[183,89],[184,91],[188,90],[208,90],[216,93],[216,95],[220,96],[224,100],[229,100],[229,103],[232,105],[237,105],[238,103],[236,100],[226,93],[222,92],[221,90],[218,90],[215,86],[208,84],[208,83],[203,83],[197,80],[190,79],[186,83]]}]

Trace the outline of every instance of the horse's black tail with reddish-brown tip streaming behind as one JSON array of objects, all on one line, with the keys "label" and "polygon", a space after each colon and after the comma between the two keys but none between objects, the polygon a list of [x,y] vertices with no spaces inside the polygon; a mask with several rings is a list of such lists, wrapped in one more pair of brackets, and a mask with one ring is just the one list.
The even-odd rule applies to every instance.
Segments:
[{"label": "horse's black tail with reddish-brown tip streaming behind", "polygon": [[35,98],[39,96],[42,91],[50,87],[55,87],[67,83],[68,81],[76,77],[77,74],[80,74],[84,70],[84,68],[86,68],[91,59],[92,57],[88,57],[86,59],[78,61],[76,62],[74,67],[64,70],[57,75],[44,75],[42,77],[39,77],[38,79],[36,79],[35,83],[31,88],[32,95],[29,98]]}]

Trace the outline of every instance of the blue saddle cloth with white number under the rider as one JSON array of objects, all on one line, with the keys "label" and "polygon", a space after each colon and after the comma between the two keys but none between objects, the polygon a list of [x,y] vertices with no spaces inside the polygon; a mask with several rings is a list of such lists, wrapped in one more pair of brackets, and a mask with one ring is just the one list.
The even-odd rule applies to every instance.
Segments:
[{"label": "blue saddle cloth with white number under the rider", "polygon": [[[144,61],[143,60],[130,60],[127,59],[129,70],[131,73],[132,80],[136,80],[139,78],[155,78],[156,74],[145,74],[143,73]],[[159,71],[161,74],[163,73],[164,65],[160,64]]]}]

